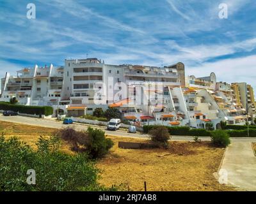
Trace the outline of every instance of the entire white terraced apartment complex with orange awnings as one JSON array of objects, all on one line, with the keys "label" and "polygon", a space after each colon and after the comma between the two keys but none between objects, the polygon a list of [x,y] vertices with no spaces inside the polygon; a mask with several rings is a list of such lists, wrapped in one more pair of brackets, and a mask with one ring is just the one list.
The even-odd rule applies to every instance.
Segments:
[{"label": "entire white terraced apartment complex with orange awnings", "polygon": [[1,101],[16,97],[23,105],[49,105],[54,116],[79,117],[98,107],[115,107],[138,126],[204,128],[212,122],[217,128],[221,120],[244,124],[245,113],[255,111],[250,85],[217,82],[214,73],[185,78],[182,62],[159,68],[70,59],[61,67],[36,65],[17,71],[15,77],[6,73],[1,85]]}]

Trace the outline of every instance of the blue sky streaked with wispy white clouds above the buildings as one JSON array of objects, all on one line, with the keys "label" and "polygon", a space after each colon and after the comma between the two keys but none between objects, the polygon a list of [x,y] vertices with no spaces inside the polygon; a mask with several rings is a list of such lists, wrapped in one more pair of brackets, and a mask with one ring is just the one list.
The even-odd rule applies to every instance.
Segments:
[{"label": "blue sky streaked with wispy white clouds above the buildings", "polygon": [[[36,19],[26,17],[28,3]],[[214,71],[218,81],[256,89],[255,11],[255,0],[1,0],[0,75],[88,54],[108,64],[181,61],[186,75]]]}]

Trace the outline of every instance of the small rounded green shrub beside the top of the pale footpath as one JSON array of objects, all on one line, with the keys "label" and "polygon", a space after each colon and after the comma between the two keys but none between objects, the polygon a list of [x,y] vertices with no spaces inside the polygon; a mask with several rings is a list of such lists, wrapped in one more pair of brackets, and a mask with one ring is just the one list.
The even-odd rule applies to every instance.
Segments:
[{"label": "small rounded green shrub beside the top of the pale footpath", "polygon": [[211,141],[214,145],[219,147],[227,147],[230,144],[228,133],[222,129],[211,131]]}]

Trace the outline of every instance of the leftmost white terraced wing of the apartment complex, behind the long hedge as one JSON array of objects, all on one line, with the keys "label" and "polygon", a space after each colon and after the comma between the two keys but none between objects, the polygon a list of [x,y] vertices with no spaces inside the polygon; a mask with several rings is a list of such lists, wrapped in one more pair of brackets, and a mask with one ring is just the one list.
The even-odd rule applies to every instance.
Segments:
[{"label": "leftmost white terraced wing of the apartment complex, behind the long hedge", "polygon": [[17,76],[1,79],[1,101],[10,101],[16,97],[22,105],[57,105],[63,84],[63,68],[44,66],[24,68]]}]

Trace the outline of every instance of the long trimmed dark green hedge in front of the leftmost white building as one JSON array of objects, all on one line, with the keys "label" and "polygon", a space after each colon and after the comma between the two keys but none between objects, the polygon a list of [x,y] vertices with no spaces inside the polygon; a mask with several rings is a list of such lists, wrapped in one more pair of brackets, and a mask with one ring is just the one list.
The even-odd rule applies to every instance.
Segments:
[{"label": "long trimmed dark green hedge in front of the leftmost white building", "polygon": [[19,113],[26,113],[31,115],[52,115],[53,108],[51,106],[24,106],[14,105],[10,103],[0,102],[0,110],[13,110]]}]

